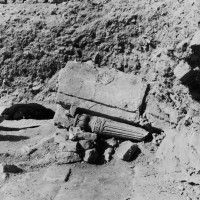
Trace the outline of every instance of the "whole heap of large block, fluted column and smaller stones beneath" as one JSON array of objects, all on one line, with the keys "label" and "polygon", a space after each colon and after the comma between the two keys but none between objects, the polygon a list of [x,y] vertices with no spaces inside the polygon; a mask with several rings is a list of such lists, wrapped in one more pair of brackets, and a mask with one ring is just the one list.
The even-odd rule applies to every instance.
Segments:
[{"label": "whole heap of large block, fluted column and smaller stones beneath", "polygon": [[[126,161],[133,158],[137,144],[131,141],[119,144],[117,139],[138,142],[148,135],[145,129],[135,126],[139,122],[147,85],[131,81],[132,76],[124,77],[113,70],[97,70],[87,63],[69,62],[60,71],[54,117],[58,126],[54,142],[59,144],[59,164],[95,163],[101,158],[108,162],[118,146],[118,158]],[[106,136],[110,139],[105,139]]]}]

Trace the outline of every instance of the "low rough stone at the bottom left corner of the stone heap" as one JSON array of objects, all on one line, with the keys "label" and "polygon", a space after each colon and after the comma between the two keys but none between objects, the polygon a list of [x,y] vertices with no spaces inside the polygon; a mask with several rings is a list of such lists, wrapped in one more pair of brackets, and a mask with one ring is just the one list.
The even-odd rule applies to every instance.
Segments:
[{"label": "low rough stone at the bottom left corner of the stone heap", "polygon": [[56,159],[58,164],[68,164],[81,161],[79,154],[75,152],[60,152],[56,155]]}]

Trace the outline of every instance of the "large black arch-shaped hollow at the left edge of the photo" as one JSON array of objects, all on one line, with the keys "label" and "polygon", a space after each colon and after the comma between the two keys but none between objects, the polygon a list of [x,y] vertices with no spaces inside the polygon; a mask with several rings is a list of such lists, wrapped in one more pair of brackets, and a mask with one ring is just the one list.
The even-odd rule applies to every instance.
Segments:
[{"label": "large black arch-shaped hollow at the left edge of the photo", "polygon": [[53,119],[55,112],[37,103],[15,104],[4,109],[2,116],[7,116],[7,120],[36,119],[45,120]]}]

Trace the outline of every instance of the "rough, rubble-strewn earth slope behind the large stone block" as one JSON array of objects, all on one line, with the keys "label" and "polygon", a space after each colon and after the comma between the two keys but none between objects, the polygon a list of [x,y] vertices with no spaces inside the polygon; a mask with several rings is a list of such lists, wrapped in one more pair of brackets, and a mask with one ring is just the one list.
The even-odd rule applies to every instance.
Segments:
[{"label": "rough, rubble-strewn earth slope behind the large stone block", "polygon": [[[32,101],[32,86],[49,85],[47,79],[75,59],[140,76],[151,84],[155,105],[167,102],[183,116],[194,102],[192,97],[199,99],[199,88],[191,95],[173,73],[182,60],[199,66],[193,63],[199,53],[190,56],[190,47],[196,50],[199,44],[198,37],[193,42],[198,0],[77,0],[63,5],[1,6],[0,96],[6,102]],[[191,46],[187,45],[191,40]],[[55,97],[55,82],[36,95],[37,99]],[[4,87],[3,83],[8,84]],[[147,123],[161,129],[169,126],[163,112],[159,118],[153,109]]]}]

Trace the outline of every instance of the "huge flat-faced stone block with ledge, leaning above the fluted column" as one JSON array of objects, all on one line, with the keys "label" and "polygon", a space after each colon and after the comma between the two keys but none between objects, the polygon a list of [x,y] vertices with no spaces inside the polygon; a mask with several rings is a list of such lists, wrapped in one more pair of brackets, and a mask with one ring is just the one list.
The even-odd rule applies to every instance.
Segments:
[{"label": "huge flat-faced stone block with ledge, leaning above the fluted column", "polygon": [[57,103],[138,122],[147,87],[133,74],[68,62],[59,74]]}]

